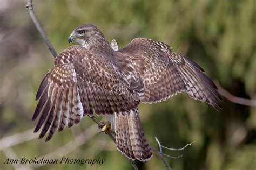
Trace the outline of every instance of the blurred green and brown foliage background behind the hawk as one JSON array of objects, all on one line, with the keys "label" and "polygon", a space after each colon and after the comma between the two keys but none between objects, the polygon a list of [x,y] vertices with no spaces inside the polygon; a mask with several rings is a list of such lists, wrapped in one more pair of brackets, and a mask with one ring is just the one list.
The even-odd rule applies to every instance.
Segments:
[{"label": "blurred green and brown foliage background behind the hawk", "polygon": [[[0,0],[0,169],[132,169],[109,137],[84,118],[45,143],[31,122],[39,83],[53,57],[32,23],[26,1]],[[231,94],[256,99],[255,1],[33,1],[39,22],[57,53],[80,24],[97,25],[119,48],[133,38],[156,39],[196,61]],[[140,104],[149,144],[164,151],[173,169],[256,169],[256,108],[223,97],[223,110],[179,94],[158,104]],[[101,118],[100,118],[101,119]],[[7,165],[8,158],[106,159],[103,165]],[[164,169],[154,157],[139,169]]]}]

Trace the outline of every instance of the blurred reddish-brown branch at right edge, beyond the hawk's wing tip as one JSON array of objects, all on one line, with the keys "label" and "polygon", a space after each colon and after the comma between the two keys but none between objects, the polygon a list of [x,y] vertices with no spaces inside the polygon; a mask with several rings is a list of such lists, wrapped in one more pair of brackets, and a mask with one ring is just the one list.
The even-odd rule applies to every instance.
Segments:
[{"label": "blurred reddish-brown branch at right edge, beyond the hawk's wing tip", "polygon": [[223,87],[221,87],[220,83],[218,81],[214,81],[214,83],[216,84],[219,93],[222,96],[224,96],[227,100],[229,100],[233,103],[241,104],[241,105],[256,107],[256,100],[250,100],[250,99],[247,99],[247,98],[234,96],[231,93],[229,93],[227,90],[225,90]]}]

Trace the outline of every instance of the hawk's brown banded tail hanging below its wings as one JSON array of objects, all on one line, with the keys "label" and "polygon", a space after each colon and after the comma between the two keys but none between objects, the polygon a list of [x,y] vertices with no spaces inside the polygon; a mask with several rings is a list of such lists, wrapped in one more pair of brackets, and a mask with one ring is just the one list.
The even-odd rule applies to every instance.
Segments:
[{"label": "hawk's brown banded tail hanging below its wings", "polygon": [[129,159],[147,161],[152,157],[150,146],[140,124],[138,110],[115,116],[117,149]]}]

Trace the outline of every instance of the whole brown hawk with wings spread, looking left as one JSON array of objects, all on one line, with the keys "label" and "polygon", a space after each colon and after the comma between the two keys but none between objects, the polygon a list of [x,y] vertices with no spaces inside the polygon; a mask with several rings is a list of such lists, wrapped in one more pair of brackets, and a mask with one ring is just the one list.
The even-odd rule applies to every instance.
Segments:
[{"label": "whole brown hawk with wings spread, looking left", "polygon": [[[152,157],[138,114],[138,104],[156,103],[186,91],[192,98],[220,108],[217,87],[204,70],[163,42],[136,38],[114,51],[92,24],[78,26],[55,59],[37,91],[32,120],[41,113],[39,138],[78,124],[83,116],[114,115],[117,148],[140,161]],[[116,47],[117,48],[117,47]]]}]

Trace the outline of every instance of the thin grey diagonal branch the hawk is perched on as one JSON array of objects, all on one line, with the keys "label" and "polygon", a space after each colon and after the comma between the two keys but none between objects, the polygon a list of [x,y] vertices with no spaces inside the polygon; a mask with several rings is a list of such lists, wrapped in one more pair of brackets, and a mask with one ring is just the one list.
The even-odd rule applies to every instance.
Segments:
[{"label": "thin grey diagonal branch the hawk is perched on", "polygon": [[[49,50],[51,51],[53,57],[55,58],[57,56],[57,53],[55,51],[55,49],[53,48],[53,46],[51,45],[51,42],[49,41],[48,37],[46,36],[46,34],[44,33],[41,25],[39,24],[36,16],[35,16],[35,12],[33,11],[33,5],[32,5],[32,0],[28,0],[28,4],[26,5],[26,8],[29,9],[29,13],[30,16],[33,20],[33,23],[35,24],[38,32],[41,34],[42,38],[44,39],[45,44],[48,46]],[[99,126],[103,126],[104,124],[102,122],[100,122],[96,117],[94,116],[89,116],[95,123],[97,123]],[[116,139],[112,136],[112,134],[110,132],[106,132],[106,134],[114,141],[114,143],[116,143]],[[134,169],[138,169],[138,167],[134,164],[134,161],[129,159],[129,161],[131,162],[131,165],[133,166]]]}]

